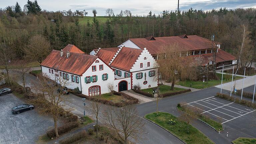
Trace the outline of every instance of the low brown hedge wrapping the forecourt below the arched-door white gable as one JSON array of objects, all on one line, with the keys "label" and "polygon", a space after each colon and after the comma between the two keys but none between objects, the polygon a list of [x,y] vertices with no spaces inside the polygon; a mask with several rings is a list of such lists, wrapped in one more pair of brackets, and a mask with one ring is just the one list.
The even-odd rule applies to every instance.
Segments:
[{"label": "low brown hedge wrapping the forecourt below the arched-door white gable", "polygon": [[113,91],[113,94],[123,96],[124,98],[128,99],[129,101],[114,103],[112,101],[108,101],[108,100],[104,100],[104,99],[98,99],[96,97],[91,97],[91,96],[87,96],[87,95],[84,95],[84,94],[78,94],[78,93],[73,92],[73,91],[71,91],[71,93],[78,96],[78,97],[86,98],[87,100],[97,101],[97,102],[102,103],[102,104],[116,106],[116,107],[123,107],[125,105],[137,104],[139,102],[139,100],[137,98],[134,98],[134,97],[132,97],[130,95],[127,95],[125,93],[116,92],[116,91]]}]

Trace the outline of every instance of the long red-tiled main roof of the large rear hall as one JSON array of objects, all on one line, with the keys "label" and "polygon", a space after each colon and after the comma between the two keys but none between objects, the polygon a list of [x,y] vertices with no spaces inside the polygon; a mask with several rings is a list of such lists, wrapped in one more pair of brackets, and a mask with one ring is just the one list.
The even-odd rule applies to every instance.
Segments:
[{"label": "long red-tiled main roof of the large rear hall", "polygon": [[[154,40],[155,39],[155,40]],[[178,43],[181,46],[180,51],[200,50],[211,48],[211,41],[197,35],[182,35],[172,37],[147,37],[129,39],[141,49],[147,48],[152,54],[161,53],[161,47]]]}]

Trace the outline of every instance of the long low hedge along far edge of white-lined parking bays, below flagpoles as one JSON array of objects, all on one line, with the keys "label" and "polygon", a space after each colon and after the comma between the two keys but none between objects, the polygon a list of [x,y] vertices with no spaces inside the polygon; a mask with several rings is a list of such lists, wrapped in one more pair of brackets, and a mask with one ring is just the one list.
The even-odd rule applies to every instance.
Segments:
[{"label": "long low hedge along far edge of white-lined parking bays, below flagpoles", "polygon": [[252,103],[251,101],[247,101],[247,100],[243,100],[243,99],[241,100],[238,97],[234,97],[234,96],[230,96],[230,95],[226,95],[226,94],[220,94],[220,93],[217,93],[216,97],[223,98],[223,99],[226,99],[226,100],[229,100],[229,101],[232,101],[232,102],[235,102],[235,103],[247,106],[247,107],[256,108],[256,103]]}]

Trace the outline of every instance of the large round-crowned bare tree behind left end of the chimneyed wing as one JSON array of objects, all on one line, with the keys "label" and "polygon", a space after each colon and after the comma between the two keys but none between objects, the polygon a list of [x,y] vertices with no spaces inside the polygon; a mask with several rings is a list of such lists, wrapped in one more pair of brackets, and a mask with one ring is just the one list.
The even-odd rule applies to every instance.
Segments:
[{"label": "large round-crowned bare tree behind left end of the chimneyed wing", "polygon": [[37,60],[39,63],[50,53],[50,43],[41,35],[35,35],[29,40],[29,45],[24,48],[26,57]]}]

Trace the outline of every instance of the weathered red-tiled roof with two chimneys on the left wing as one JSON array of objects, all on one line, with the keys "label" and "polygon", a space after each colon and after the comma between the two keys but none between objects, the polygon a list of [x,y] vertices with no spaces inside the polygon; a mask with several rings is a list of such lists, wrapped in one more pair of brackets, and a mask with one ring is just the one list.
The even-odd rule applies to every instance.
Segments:
[{"label": "weathered red-tiled roof with two chimneys on the left wing", "polygon": [[65,51],[63,51],[63,56],[61,57],[60,51],[52,50],[52,52],[41,63],[41,66],[71,74],[82,75],[97,58],[97,56],[72,52],[70,53],[69,58],[67,58],[67,52]]}]

